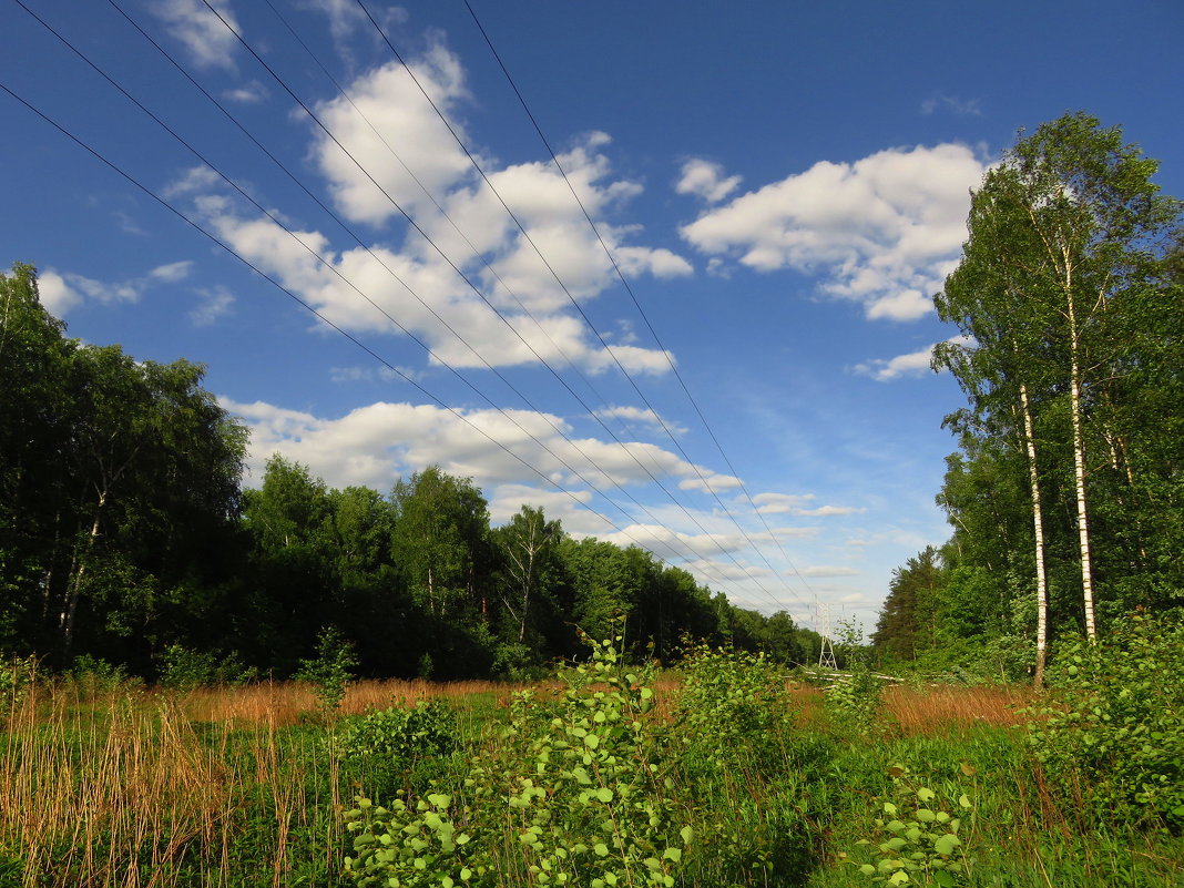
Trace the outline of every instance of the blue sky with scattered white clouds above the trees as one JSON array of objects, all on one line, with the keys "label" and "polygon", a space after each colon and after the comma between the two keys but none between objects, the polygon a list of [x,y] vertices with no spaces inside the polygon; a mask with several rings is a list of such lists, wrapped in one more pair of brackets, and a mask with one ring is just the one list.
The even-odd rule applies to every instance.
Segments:
[{"label": "blue sky with scattered white clouds above the trees", "polygon": [[870,625],[947,535],[929,296],[969,189],[1086,110],[1184,194],[1184,7],[470,2],[599,237],[463,0],[366,0],[414,78],[356,0],[43,0],[205,160],[17,2],[0,83],[368,352],[8,95],[0,262],[70,335],[207,365],[249,484],[276,451],[384,491],[437,463],[495,522],[541,504],[742,605]]}]

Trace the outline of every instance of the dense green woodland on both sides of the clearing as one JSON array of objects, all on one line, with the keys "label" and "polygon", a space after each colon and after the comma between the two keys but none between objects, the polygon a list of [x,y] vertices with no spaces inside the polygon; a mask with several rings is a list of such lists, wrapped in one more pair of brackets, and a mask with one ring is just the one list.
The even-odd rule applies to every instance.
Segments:
[{"label": "dense green woodland on both sides of the clearing", "polygon": [[[899,568],[886,664],[1040,683],[1057,639],[1182,604],[1184,225],[1118,128],[1021,136],[972,195],[938,294],[934,369],[967,403],[938,495],[953,528]],[[786,613],[741,610],[638,548],[523,506],[490,527],[427,468],[336,490],[275,456],[243,489],[247,431],[202,368],[65,336],[36,271],[0,276],[0,650],[153,677],[172,651],[285,677],[333,628],[361,671],[523,676],[626,620],[633,654],[684,638],[817,659]]]}]

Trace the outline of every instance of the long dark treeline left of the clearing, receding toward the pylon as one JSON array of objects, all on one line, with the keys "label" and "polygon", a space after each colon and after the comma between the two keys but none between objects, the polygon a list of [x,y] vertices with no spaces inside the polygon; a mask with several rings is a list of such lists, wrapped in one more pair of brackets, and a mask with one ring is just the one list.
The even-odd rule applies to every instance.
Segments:
[{"label": "long dark treeline left of the clearing, receding toward the pylon", "polygon": [[332,628],[366,675],[516,677],[623,617],[637,657],[683,637],[818,656],[789,614],[541,509],[491,527],[481,491],[435,466],[384,495],[275,456],[244,490],[247,431],[202,373],[67,339],[31,266],[0,275],[0,652],[152,678],[180,651],[287,677]]}]

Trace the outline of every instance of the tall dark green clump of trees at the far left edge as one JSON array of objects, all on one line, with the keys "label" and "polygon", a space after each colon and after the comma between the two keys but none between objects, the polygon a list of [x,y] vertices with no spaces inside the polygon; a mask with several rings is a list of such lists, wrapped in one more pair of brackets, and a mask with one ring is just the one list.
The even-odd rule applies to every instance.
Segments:
[{"label": "tall dark green clump of trees at the far left edge", "polygon": [[231,532],[245,430],[200,366],[63,333],[31,266],[0,276],[4,584],[39,652],[67,661],[83,626],[143,661]]}]

